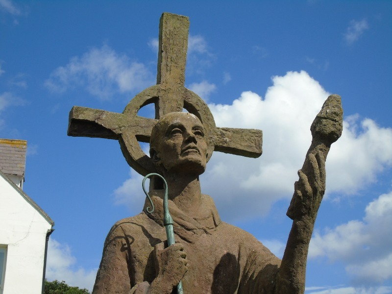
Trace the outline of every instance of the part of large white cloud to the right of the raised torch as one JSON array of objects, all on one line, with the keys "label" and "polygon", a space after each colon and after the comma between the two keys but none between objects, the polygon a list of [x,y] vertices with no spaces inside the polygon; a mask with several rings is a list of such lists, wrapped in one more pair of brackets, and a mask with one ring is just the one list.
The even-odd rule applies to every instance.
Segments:
[{"label": "part of large white cloud to the right of the raised torch", "polygon": [[343,122],[342,137],[328,156],[328,191],[356,193],[392,166],[392,128],[349,116]]}]

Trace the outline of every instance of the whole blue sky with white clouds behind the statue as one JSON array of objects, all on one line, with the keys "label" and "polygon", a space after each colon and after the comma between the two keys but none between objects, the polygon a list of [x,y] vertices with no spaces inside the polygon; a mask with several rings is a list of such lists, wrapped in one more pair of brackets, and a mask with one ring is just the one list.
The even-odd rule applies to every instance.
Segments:
[{"label": "whole blue sky with white clouds behind the statue", "polygon": [[118,142],[67,137],[68,114],[155,84],[165,11],[190,18],[185,84],[217,125],[263,130],[259,159],[214,152],[201,177],[223,221],[282,255],[310,124],[339,94],[306,293],[392,293],[391,1],[0,0],[0,137],[27,140],[25,192],[55,221],[49,280],[92,289],[110,227],[142,210]]}]

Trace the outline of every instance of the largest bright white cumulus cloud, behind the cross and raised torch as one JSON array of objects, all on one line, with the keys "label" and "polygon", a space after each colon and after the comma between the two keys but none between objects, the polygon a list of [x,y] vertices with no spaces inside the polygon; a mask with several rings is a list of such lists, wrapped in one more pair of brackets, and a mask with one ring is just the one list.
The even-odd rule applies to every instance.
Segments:
[{"label": "largest bright white cumulus cloud, behind the cross and raised torch", "polygon": [[[263,130],[260,158],[214,152],[201,175],[202,192],[214,198],[224,221],[266,216],[273,203],[293,196],[297,171],[312,140],[310,125],[329,95],[306,72],[274,76],[272,83],[264,99],[243,92],[231,104],[209,105],[218,126]],[[349,194],[374,181],[392,165],[389,142],[391,128],[381,128],[370,119],[346,118],[343,135],[327,158],[327,194]],[[124,191],[131,195],[129,198],[143,194],[140,181],[128,184],[130,190]],[[143,195],[141,199],[139,204],[132,200],[132,212],[141,211]]]}]

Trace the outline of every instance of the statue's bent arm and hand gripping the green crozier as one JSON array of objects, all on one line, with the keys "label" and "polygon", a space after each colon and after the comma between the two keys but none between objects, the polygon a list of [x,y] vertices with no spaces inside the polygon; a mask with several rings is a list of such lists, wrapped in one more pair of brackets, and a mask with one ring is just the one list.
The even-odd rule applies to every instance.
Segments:
[{"label": "statue's bent arm and hand gripping the green crozier", "polygon": [[[138,234],[127,228],[123,229],[120,221],[110,230],[103,247],[93,294],[171,294],[187,271],[188,260],[183,245],[173,244],[168,248],[164,248],[164,243],[156,245],[154,261],[150,264],[155,266],[155,271],[147,273],[147,264],[142,262],[137,266],[132,258],[132,247],[136,244],[140,246],[142,241],[137,240]],[[155,276],[151,284],[144,280],[146,274],[152,274],[152,278]]]}]

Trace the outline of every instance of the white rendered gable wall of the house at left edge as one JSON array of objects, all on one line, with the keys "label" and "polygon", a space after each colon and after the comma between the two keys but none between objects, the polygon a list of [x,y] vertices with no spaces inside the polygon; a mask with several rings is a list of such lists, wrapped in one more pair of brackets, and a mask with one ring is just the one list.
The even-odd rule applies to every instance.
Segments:
[{"label": "white rendered gable wall of the house at left edge", "polygon": [[7,245],[3,294],[40,294],[49,221],[0,175],[0,244]]}]

